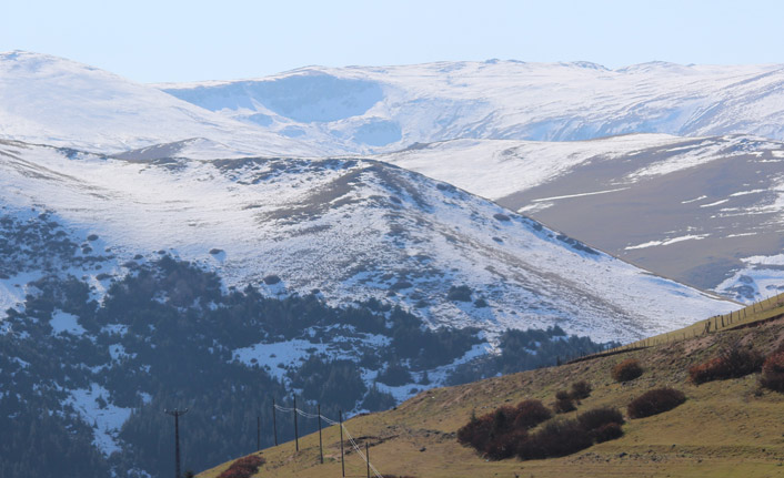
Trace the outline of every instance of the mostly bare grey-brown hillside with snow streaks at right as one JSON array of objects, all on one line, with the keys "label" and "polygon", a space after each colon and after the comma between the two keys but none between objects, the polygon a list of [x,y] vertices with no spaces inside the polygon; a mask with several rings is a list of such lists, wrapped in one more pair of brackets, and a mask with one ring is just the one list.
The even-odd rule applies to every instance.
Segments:
[{"label": "mostly bare grey-brown hillside with snow streaks at right", "polygon": [[634,134],[455,140],[379,156],[634,264],[753,302],[781,291],[784,143]]}]

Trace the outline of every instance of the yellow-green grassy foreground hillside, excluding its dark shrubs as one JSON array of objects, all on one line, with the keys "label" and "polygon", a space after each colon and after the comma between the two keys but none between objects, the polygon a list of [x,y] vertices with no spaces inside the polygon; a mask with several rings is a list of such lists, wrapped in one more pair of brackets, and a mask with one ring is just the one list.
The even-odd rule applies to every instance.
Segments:
[{"label": "yellow-green grassy foreground hillside, excluding its dark shrubs", "polygon": [[[600,357],[561,367],[524,372],[458,387],[424,391],[394,410],[356,417],[346,427],[361,447],[371,445],[371,461],[382,474],[414,477],[778,477],[784,476],[784,395],[761,391],[758,374],[687,384],[688,366],[715,355],[723,345],[743,340],[767,353],[784,340],[784,318],[756,327],[728,329],[651,348]],[[610,369],[621,359],[636,357],[645,374],[621,385]],[[600,405],[625,405],[659,386],[682,389],[688,400],[681,407],[624,425],[619,440],[596,445],[570,457],[547,460],[485,461],[454,438],[472,411],[491,411],[524,398],[553,401],[556,390],[587,379],[594,391],[580,410]],[[566,414],[573,416],[575,413]],[[324,430],[325,464],[319,464],[319,437],[263,451],[263,477],[340,477],[338,427]],[[348,455],[346,476],[365,476],[364,462]],[[217,477],[229,464],[199,475]]]}]

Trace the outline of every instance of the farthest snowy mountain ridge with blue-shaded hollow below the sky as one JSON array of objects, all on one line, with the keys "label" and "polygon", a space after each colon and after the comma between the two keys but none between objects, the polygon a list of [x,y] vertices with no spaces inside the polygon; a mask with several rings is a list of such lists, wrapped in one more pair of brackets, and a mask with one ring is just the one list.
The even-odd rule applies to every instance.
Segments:
[{"label": "farthest snowy mountain ridge with blue-shaded hollow below the sky", "polygon": [[784,139],[784,67],[777,64],[309,67],[258,80],[159,88],[249,124],[353,145],[356,152],[466,138],[745,133]]}]

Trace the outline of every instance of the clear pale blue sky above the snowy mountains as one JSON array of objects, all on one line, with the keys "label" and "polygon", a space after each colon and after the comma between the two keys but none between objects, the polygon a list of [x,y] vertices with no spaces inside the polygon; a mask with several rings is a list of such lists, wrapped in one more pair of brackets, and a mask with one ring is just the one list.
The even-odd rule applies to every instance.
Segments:
[{"label": "clear pale blue sky above the snowy mountains", "polygon": [[139,82],[493,58],[784,63],[781,1],[2,1],[0,51]]}]

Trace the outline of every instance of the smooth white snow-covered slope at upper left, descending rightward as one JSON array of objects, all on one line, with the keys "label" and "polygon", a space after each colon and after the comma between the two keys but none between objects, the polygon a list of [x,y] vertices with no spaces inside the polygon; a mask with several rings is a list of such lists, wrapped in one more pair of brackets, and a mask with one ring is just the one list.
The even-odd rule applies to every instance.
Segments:
[{"label": "smooth white snow-covered slope at upper left, descending rightward", "polygon": [[121,152],[202,136],[257,154],[334,152],[70,60],[0,53],[0,138]]}]

